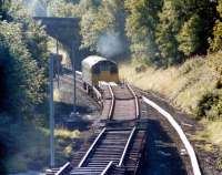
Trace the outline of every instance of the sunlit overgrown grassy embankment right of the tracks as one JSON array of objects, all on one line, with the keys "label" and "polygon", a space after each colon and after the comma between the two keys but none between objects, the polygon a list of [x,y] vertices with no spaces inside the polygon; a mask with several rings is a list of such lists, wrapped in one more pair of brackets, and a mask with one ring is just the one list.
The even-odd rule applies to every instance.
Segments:
[{"label": "sunlit overgrown grassy embankment right of the tracks", "polygon": [[222,52],[194,56],[180,66],[155,70],[122,63],[123,79],[142,90],[161,93],[182,111],[204,123],[205,140],[222,147]]}]

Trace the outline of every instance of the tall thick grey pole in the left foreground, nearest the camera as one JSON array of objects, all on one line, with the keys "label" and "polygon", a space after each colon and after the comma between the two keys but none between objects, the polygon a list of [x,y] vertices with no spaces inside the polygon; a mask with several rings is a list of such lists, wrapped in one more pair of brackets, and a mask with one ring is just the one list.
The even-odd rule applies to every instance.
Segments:
[{"label": "tall thick grey pole in the left foreground, nearest the camera", "polygon": [[54,103],[53,103],[53,54],[50,53],[50,166],[54,167]]}]

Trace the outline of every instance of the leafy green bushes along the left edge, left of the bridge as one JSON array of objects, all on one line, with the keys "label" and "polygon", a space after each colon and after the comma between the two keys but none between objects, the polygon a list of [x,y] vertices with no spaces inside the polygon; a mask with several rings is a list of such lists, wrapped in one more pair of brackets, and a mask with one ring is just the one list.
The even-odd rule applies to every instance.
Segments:
[{"label": "leafy green bushes along the left edge, left of the bridge", "polygon": [[6,107],[29,115],[46,96],[47,37],[37,24],[27,25],[24,30],[22,23],[0,22],[0,65]]}]

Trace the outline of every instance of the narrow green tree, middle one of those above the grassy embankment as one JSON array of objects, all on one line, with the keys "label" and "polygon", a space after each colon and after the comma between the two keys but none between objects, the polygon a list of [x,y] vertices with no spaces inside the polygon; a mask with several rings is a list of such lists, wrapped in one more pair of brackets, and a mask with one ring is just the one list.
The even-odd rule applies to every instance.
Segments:
[{"label": "narrow green tree, middle one of those above the grassy embankment", "polygon": [[157,25],[155,41],[159,45],[161,63],[164,66],[170,66],[182,61],[176,40],[181,24],[176,9],[178,6],[173,1],[164,1],[162,12],[159,14],[160,21]]}]

